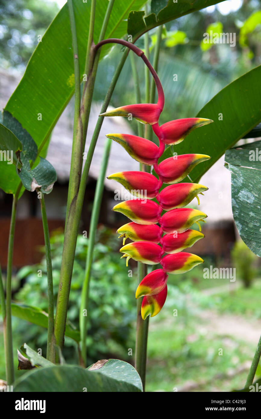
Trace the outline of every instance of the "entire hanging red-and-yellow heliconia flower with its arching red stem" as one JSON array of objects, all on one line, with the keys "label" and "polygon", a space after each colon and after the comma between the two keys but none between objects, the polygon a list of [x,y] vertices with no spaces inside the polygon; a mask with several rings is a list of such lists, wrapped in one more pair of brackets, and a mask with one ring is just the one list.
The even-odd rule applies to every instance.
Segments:
[{"label": "entire hanging red-and-yellow heliconia flower with its arching red stem", "polygon": [[[112,41],[114,40],[101,41],[98,45]],[[118,43],[125,45],[126,41],[119,40]],[[145,264],[160,263],[162,265],[162,269],[156,269],[146,275],[136,291],[136,298],[143,296],[141,315],[145,319],[148,315],[153,317],[158,314],[165,303],[167,272],[171,274],[187,272],[203,262],[199,256],[183,252],[183,249],[191,247],[204,237],[201,232],[189,228],[194,223],[199,225],[199,221],[204,221],[207,217],[198,209],[182,208],[198,194],[206,191],[207,187],[193,183],[177,183],[184,179],[198,163],[210,157],[204,154],[185,154],[167,158],[161,163],[158,163],[158,160],[164,152],[165,145],[178,144],[192,130],[213,121],[204,118],[185,118],[159,126],[158,119],[164,106],[164,93],[160,80],[144,53],[134,45],[130,48],[142,57],[150,69],[158,89],[158,103],[121,106],[102,116],[133,116],[144,124],[152,125],[159,140],[158,147],[151,141],[135,135],[107,135],[119,142],[135,160],[149,166],[153,165],[159,177],[157,179],[150,173],[137,171],[114,173],[108,177],[118,181],[138,197],[138,199],[120,202],[113,208],[114,211],[121,212],[132,220],[118,229],[119,237],[124,238],[123,244],[126,238],[132,240],[132,243],[120,249],[120,252],[124,253],[122,257],[127,258],[126,264],[128,265],[129,259],[132,258]],[[170,186],[159,191],[163,183]],[[160,205],[150,200],[155,198]],[[168,212],[160,216],[162,209]],[[201,231],[200,225],[199,229]],[[161,237],[163,233],[167,234]],[[163,257],[165,252],[168,254]]]}]

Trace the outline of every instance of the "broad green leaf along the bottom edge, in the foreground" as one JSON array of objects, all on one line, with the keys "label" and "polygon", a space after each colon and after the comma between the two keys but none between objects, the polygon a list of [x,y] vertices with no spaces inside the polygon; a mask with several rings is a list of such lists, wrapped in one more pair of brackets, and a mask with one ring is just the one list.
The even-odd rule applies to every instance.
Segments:
[{"label": "broad green leaf along the bottom edge, in the foreground", "polygon": [[15,392],[141,392],[140,376],[132,365],[108,360],[98,370],[78,365],[34,369],[14,384]]}]

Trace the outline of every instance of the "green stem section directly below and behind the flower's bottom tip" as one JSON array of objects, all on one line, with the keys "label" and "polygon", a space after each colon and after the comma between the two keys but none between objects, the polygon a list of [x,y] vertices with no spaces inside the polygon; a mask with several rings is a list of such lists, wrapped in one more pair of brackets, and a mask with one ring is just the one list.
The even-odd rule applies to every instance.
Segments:
[{"label": "green stem section directly below and behind the flower's bottom tip", "polygon": [[[147,266],[138,262],[138,284],[147,274]],[[137,300],[137,325],[135,345],[135,368],[140,375],[145,391],[146,360],[147,360],[147,339],[149,330],[149,316],[143,320],[141,316],[142,298]]]}]

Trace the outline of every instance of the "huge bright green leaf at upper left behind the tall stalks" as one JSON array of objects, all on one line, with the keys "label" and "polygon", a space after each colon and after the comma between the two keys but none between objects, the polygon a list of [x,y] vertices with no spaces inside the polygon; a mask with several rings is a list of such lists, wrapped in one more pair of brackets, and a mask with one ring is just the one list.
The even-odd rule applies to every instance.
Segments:
[{"label": "huge bright green leaf at upper left behind the tall stalks", "polygon": [[[91,2],[75,0],[73,3],[80,72],[83,74]],[[117,0],[111,12],[106,38],[122,37],[127,32],[126,19],[129,11],[139,9],[144,3],[144,0]],[[96,2],[94,42],[98,41],[107,5],[108,0]],[[108,51],[108,48],[111,48],[111,45],[103,48],[103,51]],[[49,137],[73,92],[72,35],[68,7],[65,4],[37,45],[26,72],[5,110],[22,124],[39,147]]]}]

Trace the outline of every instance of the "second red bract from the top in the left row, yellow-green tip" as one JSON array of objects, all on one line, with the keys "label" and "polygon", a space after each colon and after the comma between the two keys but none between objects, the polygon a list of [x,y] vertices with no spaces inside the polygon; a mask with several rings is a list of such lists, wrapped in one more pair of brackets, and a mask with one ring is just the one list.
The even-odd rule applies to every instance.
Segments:
[{"label": "second red bract from the top in the left row, yellow-green tip", "polygon": [[106,137],[118,142],[134,160],[147,166],[153,166],[160,157],[159,147],[146,138],[130,134],[107,134]]}]

